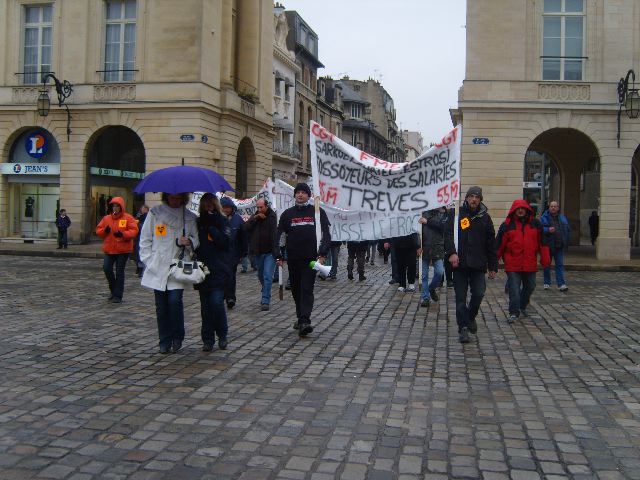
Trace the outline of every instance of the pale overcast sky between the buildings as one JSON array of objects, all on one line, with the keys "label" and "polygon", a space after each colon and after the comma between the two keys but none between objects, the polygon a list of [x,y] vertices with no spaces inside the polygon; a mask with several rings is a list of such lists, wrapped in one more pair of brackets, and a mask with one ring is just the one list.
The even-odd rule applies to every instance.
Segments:
[{"label": "pale overcast sky between the buildings", "polygon": [[288,0],[318,34],[319,76],[380,80],[425,147],[451,128],[464,79],[465,0]]}]

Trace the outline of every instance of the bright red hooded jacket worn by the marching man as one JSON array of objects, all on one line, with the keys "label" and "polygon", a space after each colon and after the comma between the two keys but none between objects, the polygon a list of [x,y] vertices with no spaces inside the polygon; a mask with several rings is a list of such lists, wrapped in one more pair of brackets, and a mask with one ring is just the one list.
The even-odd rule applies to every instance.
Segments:
[{"label": "bright red hooded jacket worn by the marching man", "polygon": [[[527,211],[522,220],[515,215],[520,207]],[[549,247],[542,241],[542,224],[525,200],[515,200],[511,205],[509,215],[498,230],[496,249],[498,258],[504,260],[506,272],[536,272],[538,254],[543,267],[550,265]]]}]

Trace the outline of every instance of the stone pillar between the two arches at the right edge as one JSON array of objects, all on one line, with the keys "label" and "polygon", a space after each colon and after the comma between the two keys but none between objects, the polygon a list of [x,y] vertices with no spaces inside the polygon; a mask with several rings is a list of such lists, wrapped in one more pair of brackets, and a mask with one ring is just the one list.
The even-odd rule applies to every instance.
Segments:
[{"label": "stone pillar between the two arches at the right edge", "polygon": [[600,158],[600,234],[598,260],[629,260],[631,148],[603,148]]}]

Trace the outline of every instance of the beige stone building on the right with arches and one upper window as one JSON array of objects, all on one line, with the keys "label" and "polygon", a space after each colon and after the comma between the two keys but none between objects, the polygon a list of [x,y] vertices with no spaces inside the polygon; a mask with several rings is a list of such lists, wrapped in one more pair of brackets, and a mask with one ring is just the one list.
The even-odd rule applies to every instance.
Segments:
[{"label": "beige stone building on the right with arches and one upper window", "polygon": [[466,31],[452,111],[463,125],[461,191],[482,186],[498,219],[516,198],[539,213],[559,200],[574,244],[596,210],[597,257],[628,259],[638,244],[640,121],[622,107],[618,145],[618,81],[640,63],[640,4],[476,0]]}]

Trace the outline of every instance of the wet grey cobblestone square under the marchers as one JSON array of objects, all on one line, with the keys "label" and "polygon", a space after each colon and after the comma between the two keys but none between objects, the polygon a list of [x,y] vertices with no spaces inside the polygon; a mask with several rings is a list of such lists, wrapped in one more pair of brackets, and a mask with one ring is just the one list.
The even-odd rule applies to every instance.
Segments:
[{"label": "wet grey cobblestone square under the marchers", "polygon": [[121,305],[100,260],[0,272],[3,479],[640,479],[638,273],[571,272],[514,326],[501,274],[464,346],[452,291],[420,308],[386,266],[318,282],[303,340],[239,274],[229,349],[200,351],[190,291],[162,356],[132,266]]}]

